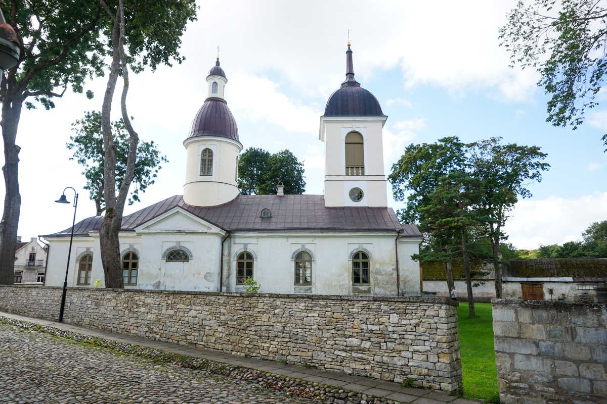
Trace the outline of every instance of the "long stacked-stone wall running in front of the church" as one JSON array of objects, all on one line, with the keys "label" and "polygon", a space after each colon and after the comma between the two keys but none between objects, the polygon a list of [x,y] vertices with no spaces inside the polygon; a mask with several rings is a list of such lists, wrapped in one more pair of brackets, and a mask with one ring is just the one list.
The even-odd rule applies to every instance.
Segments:
[{"label": "long stacked-stone wall running in front of the church", "polygon": [[[0,311],[58,317],[61,288],[0,286]],[[64,321],[163,342],[434,389],[461,389],[445,298],[68,288]]]}]

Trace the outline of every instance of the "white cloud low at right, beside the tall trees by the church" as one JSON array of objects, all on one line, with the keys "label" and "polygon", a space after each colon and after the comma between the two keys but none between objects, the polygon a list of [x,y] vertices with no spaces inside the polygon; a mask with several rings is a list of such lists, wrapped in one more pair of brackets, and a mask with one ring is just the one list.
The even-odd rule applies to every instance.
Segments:
[{"label": "white cloud low at right, beside the tall trees by the church", "polygon": [[504,230],[508,241],[518,248],[533,250],[548,245],[582,239],[582,231],[592,222],[607,219],[607,192],[577,199],[549,196],[542,200],[521,200],[510,212]]}]

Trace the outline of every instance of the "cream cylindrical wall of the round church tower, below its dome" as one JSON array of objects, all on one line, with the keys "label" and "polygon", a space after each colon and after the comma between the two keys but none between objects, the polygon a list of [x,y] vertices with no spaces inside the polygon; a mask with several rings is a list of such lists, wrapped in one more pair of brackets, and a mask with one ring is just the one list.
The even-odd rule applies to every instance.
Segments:
[{"label": "cream cylindrical wall of the round church tower, below its dome", "polygon": [[[183,200],[194,206],[215,206],[234,199],[239,193],[234,156],[240,153],[242,145],[214,136],[186,139],[184,144],[187,160]],[[205,148],[213,150],[212,176],[200,176],[200,153]]]}]

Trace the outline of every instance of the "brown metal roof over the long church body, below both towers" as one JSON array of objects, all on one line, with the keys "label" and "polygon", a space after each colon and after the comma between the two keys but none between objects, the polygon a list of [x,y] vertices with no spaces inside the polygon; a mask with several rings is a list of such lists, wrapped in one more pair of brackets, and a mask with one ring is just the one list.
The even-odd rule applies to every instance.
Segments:
[{"label": "brown metal roof over the long church body, below both towers", "polygon": [[[175,195],[123,218],[121,231],[135,227],[176,207],[200,217],[217,227],[232,232],[365,232],[393,233],[402,231],[402,237],[422,237],[415,225],[402,225],[392,208],[339,207],[325,208],[322,195],[239,195],[227,204],[196,207]],[[260,217],[262,209],[269,209],[271,217]],[[89,217],[78,222],[74,235],[87,236],[103,223],[103,217]],[[71,228],[45,237],[69,236]]]}]

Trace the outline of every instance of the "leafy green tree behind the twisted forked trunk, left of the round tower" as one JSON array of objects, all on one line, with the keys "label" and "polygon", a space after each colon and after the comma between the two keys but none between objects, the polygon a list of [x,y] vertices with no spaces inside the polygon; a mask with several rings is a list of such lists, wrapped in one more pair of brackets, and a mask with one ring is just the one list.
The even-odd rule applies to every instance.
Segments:
[{"label": "leafy green tree behind the twisted forked trunk, left of the round tower", "polygon": [[[131,117],[131,119],[133,119]],[[72,143],[67,143],[68,150],[74,150],[73,157],[78,164],[84,167],[83,175],[86,178],[85,190],[89,191],[90,200],[95,201],[95,216],[101,216],[106,210],[103,199],[103,171],[104,152],[103,137],[101,136],[101,113],[99,111],[86,112],[84,118],[72,124],[76,136],[70,136]],[[116,187],[120,189],[124,182],[127,167],[127,154],[130,138],[120,119],[112,122],[112,133],[116,145]],[[166,156],[162,156],[157,145],[152,142],[142,142],[137,145],[137,159],[132,182],[135,184],[131,190],[129,205],[139,202],[139,191],[145,192],[149,185],[154,184],[160,162],[168,163]]]}]

